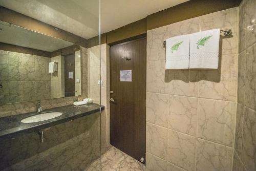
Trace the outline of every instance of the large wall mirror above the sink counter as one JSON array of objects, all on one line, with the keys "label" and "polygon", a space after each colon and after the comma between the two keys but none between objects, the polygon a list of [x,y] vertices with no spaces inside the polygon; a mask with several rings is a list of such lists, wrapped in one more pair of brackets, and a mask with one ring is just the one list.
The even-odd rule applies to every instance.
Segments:
[{"label": "large wall mirror above the sink counter", "polygon": [[0,21],[0,105],[81,95],[80,49]]}]

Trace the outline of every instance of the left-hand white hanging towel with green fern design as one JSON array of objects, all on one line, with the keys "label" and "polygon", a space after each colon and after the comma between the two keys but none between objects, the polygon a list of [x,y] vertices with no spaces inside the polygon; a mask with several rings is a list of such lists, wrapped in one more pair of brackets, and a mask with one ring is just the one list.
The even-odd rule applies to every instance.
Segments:
[{"label": "left-hand white hanging towel with green fern design", "polygon": [[188,69],[189,35],[181,35],[166,39],[165,69]]}]

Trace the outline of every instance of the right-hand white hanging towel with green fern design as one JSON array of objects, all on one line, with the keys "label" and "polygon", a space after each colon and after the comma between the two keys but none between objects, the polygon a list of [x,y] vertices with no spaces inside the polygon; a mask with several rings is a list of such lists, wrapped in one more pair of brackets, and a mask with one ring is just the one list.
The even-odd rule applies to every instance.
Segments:
[{"label": "right-hand white hanging towel with green fern design", "polygon": [[220,29],[190,34],[190,69],[218,69]]}]

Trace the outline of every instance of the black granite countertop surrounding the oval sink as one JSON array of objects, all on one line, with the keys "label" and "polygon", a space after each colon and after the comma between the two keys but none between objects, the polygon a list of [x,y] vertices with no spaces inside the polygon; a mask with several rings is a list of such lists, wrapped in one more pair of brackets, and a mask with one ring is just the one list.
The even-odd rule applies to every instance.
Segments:
[{"label": "black granite countertop surrounding the oval sink", "polygon": [[54,126],[63,122],[67,122],[70,120],[74,120],[83,116],[87,116],[99,111],[103,111],[104,106],[98,104],[84,104],[80,106],[67,105],[61,106],[58,108],[47,109],[42,111],[45,112],[63,112],[62,115],[48,119],[45,121],[34,122],[34,123],[22,123],[21,120],[33,116],[38,115],[36,112],[13,115],[0,118],[0,137],[3,138],[5,136],[17,136],[18,134],[25,134],[28,132],[39,131],[42,129],[46,129],[47,127]]}]

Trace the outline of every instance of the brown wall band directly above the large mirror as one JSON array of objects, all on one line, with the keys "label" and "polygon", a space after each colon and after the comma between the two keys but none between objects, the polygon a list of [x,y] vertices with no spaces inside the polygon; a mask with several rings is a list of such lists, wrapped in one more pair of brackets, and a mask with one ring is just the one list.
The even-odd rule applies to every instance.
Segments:
[{"label": "brown wall band directly above the large mirror", "polygon": [[0,20],[20,27],[24,27],[29,30],[36,31],[38,33],[66,40],[82,47],[87,46],[87,40],[82,37],[69,33],[65,30],[57,29],[51,25],[40,22],[29,16],[20,14],[2,6],[0,6]]}]

